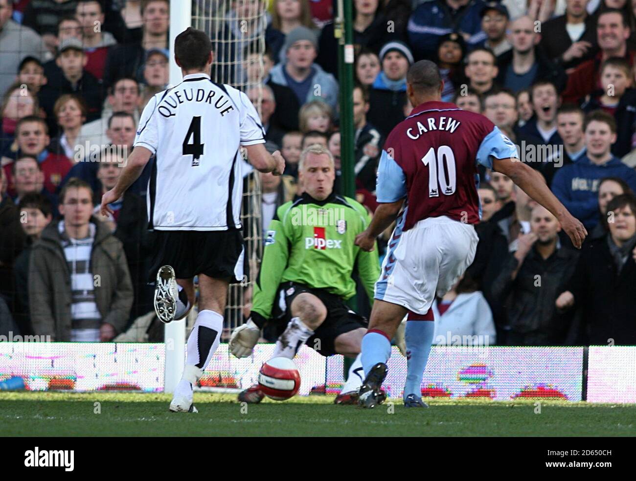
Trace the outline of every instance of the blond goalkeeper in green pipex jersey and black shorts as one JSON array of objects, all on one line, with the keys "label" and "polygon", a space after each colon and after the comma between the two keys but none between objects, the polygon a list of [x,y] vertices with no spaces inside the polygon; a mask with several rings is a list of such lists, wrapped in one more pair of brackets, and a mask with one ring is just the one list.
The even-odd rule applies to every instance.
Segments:
[{"label": "blond goalkeeper in green pipex jersey and black shorts", "polygon": [[[238,358],[251,355],[261,329],[273,322],[280,335],[272,357],[291,359],[306,343],[323,356],[355,358],[336,403],[356,403],[367,320],[345,301],[356,294],[354,270],[373,299],[378,251],[354,244],[371,218],[357,201],[333,193],[333,156],[325,147],[316,144],[301,153],[298,175],[304,193],[281,205],[269,225],[252,312],[232,333],[230,351]],[[242,391],[239,400],[256,403],[263,396],[256,385]]]}]

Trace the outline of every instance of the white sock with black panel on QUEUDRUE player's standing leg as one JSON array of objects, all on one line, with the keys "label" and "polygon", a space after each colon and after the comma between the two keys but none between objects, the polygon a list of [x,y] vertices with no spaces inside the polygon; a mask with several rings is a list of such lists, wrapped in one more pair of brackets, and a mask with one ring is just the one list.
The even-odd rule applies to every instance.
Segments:
[{"label": "white sock with black panel on QUEUDRUE player's standing leg", "polygon": [[209,309],[199,311],[195,327],[188,337],[188,359],[183,379],[195,384],[210,363],[214,351],[221,342],[223,316]]}]

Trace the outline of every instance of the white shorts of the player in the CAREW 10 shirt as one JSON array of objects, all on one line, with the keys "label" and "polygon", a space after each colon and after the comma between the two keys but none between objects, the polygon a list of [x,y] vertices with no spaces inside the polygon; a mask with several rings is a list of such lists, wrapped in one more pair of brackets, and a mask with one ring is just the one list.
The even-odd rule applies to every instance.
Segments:
[{"label": "white shorts of the player in the CAREW 10 shirt", "polygon": [[398,219],[375,283],[375,299],[424,315],[473,263],[479,238],[472,224],[430,217],[406,232]]}]

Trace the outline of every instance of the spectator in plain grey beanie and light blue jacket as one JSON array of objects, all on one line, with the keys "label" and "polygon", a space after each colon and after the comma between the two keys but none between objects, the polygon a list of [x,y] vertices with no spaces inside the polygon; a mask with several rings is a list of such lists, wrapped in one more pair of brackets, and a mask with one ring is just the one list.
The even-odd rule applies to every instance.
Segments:
[{"label": "spectator in plain grey beanie and light blue jacket", "polygon": [[307,27],[296,27],[287,34],[283,48],[286,62],[272,68],[272,82],[291,88],[300,105],[310,100],[322,100],[335,111],[338,82],[314,62],[318,48],[314,32]]}]

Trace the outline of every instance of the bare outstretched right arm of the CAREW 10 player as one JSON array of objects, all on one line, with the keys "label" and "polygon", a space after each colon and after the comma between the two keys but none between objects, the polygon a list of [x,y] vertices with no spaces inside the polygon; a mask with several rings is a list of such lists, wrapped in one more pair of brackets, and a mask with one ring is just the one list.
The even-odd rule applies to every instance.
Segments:
[{"label": "bare outstretched right arm of the CAREW 10 player", "polygon": [[572,216],[550,191],[541,174],[515,158],[493,159],[492,168],[495,172],[508,175],[531,199],[536,200],[553,213],[560,222],[563,231],[572,240],[574,247],[581,248],[588,231],[585,230],[581,221]]}]

